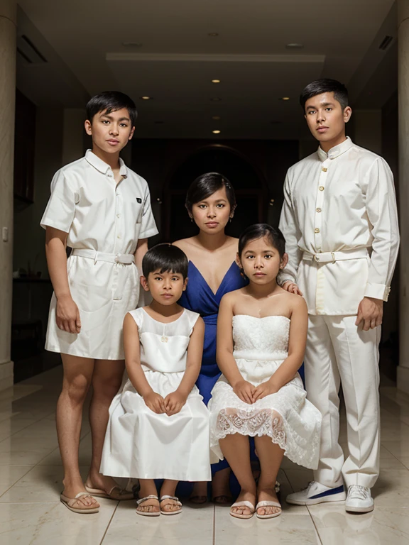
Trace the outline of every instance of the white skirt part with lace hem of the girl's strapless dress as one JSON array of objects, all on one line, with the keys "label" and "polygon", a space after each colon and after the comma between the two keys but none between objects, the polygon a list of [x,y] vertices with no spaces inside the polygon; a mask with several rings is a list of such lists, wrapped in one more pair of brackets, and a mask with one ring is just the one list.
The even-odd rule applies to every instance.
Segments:
[{"label": "white skirt part with lace hem of the girl's strapless dress", "polygon": [[[244,380],[257,386],[271,378],[283,362],[236,359],[236,363]],[[229,434],[268,435],[291,461],[306,468],[317,468],[322,418],[306,395],[297,373],[276,394],[247,404],[236,396],[222,375],[213,387],[208,406],[212,451],[222,460],[219,440]]]}]

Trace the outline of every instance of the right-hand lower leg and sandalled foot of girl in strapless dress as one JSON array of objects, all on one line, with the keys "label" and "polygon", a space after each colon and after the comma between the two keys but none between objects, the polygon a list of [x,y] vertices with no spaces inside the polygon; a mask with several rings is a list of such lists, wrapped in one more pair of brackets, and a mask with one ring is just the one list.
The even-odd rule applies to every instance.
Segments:
[{"label": "right-hand lower leg and sandalled foot of girl in strapless dress", "polygon": [[[284,451],[278,444],[271,441],[271,437],[263,435],[254,438],[257,456],[260,460],[261,474],[258,480],[257,495],[258,502],[273,501],[277,502],[276,479],[281,461],[283,461]],[[273,514],[279,512],[278,507],[259,507],[258,514]]]}]

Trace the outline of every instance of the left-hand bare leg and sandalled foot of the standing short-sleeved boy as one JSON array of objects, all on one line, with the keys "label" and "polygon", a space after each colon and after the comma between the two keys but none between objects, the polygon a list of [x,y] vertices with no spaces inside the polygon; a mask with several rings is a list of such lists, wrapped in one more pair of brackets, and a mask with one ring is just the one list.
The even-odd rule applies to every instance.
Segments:
[{"label": "left-hand bare leg and sandalled foot of the standing short-sleeved boy", "polygon": [[[79,492],[85,492],[78,463],[78,448],[82,421],[82,407],[89,386],[92,382],[94,360],[61,354],[64,378],[62,391],[57,403],[57,434],[58,444],[64,467],[64,494],[75,497]],[[97,500],[91,497],[80,498],[84,505],[99,507]]]}]

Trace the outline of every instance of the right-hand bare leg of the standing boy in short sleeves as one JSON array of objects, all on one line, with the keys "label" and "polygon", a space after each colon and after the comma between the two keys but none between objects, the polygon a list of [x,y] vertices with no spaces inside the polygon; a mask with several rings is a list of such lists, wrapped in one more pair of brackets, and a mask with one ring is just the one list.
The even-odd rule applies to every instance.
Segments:
[{"label": "right-hand bare leg of the standing boy in short sleeves", "polygon": [[116,486],[113,478],[99,473],[105,432],[109,420],[109,405],[121,386],[124,360],[96,360],[92,377],[92,400],[89,405],[89,423],[92,433],[92,461],[87,486],[109,492]]}]

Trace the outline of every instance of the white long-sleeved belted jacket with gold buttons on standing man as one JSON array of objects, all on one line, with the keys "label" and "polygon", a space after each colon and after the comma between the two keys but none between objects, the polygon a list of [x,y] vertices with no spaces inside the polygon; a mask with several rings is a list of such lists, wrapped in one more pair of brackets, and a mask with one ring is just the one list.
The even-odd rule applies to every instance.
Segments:
[{"label": "white long-sleeved belted jacket with gold buttons on standing man", "polygon": [[[297,282],[310,314],[354,315],[365,296],[388,300],[399,231],[383,158],[347,138],[290,167],[280,229],[289,260],[278,281]],[[320,254],[336,252],[320,263]]]}]

